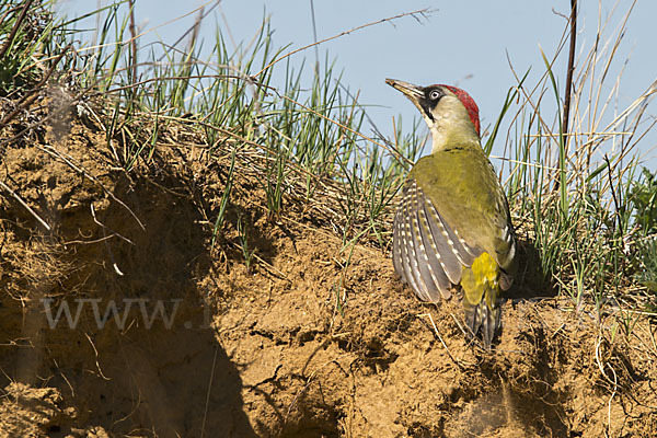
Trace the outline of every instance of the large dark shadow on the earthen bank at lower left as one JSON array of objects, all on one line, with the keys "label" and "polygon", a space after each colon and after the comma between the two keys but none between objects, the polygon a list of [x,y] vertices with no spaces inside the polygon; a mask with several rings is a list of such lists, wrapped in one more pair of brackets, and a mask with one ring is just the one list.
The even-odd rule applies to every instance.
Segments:
[{"label": "large dark shadow on the earthen bank at lower left", "polygon": [[209,266],[198,208],[166,183],[119,177],[114,193],[143,229],[106,197],[69,208],[50,199],[50,211],[42,204],[57,219],[51,235],[26,233],[21,223],[30,218],[18,205],[2,211],[15,240],[3,263],[12,275],[1,285],[0,385],[56,388],[74,410],[59,406],[46,422],[53,436],[78,425],[117,435],[255,436],[239,371],[195,283]]}]

